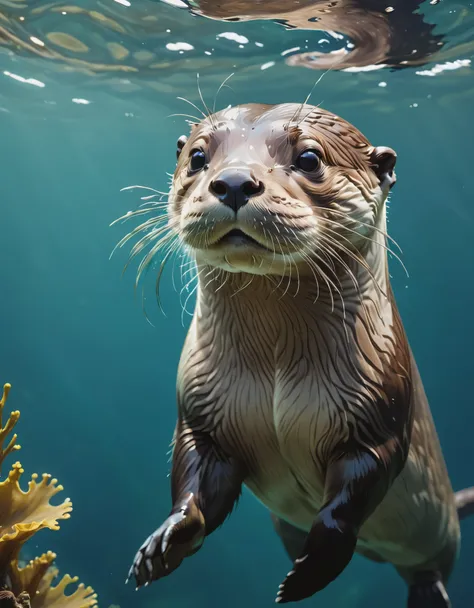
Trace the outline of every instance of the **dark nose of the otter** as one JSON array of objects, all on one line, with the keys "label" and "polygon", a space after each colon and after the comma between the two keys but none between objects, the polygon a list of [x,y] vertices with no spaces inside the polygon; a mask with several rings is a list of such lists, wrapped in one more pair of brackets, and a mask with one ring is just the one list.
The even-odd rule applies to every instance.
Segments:
[{"label": "dark nose of the otter", "polygon": [[252,196],[261,194],[263,189],[262,182],[257,181],[250,171],[245,169],[224,171],[209,186],[212,194],[236,213]]}]

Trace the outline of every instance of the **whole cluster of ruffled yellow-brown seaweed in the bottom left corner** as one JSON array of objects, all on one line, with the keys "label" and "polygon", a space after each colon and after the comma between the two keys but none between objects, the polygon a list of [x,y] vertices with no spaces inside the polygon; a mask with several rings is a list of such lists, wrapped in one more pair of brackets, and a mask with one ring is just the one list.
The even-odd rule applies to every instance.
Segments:
[{"label": "whole cluster of ruffled yellow-brown seaweed in the bottom left corner", "polygon": [[[16,433],[4,447],[7,436],[15,428],[20,412],[11,412],[3,425],[3,410],[10,392],[10,384],[3,387],[0,399],[0,472],[7,456],[20,449]],[[39,530],[59,530],[58,520],[69,519],[72,502],[66,498],[52,505],[53,496],[64,488],[58,480],[34,473],[25,492],[20,487],[24,469],[20,462],[11,467],[8,477],[0,481],[0,608],[97,608],[97,594],[82,583],[72,594],[66,595],[69,585],[77,577],[65,574],[57,584],[58,570],[53,566],[56,554],[48,551],[21,567],[20,551]]]}]

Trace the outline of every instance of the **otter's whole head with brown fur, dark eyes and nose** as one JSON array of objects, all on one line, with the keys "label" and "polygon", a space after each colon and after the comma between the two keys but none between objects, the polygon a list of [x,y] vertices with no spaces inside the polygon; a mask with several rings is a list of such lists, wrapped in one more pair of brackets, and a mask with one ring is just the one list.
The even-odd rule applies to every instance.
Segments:
[{"label": "otter's whole head with brown fur, dark eyes and nose", "polygon": [[282,275],[361,251],[395,183],[393,150],[309,105],[227,108],[177,153],[171,225],[198,264],[230,272]]}]

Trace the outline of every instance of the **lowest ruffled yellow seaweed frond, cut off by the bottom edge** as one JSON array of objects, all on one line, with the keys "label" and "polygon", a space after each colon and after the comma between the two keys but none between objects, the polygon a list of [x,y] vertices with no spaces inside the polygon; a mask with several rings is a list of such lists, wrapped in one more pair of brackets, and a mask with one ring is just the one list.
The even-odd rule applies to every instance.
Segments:
[{"label": "lowest ruffled yellow seaweed frond, cut off by the bottom edge", "polygon": [[65,574],[56,587],[51,586],[52,580],[57,576],[53,569],[43,578],[38,592],[31,596],[31,608],[91,608],[97,606],[97,593],[92,587],[85,587],[82,583],[77,586],[74,593],[65,595],[66,588],[77,583],[77,576]]}]

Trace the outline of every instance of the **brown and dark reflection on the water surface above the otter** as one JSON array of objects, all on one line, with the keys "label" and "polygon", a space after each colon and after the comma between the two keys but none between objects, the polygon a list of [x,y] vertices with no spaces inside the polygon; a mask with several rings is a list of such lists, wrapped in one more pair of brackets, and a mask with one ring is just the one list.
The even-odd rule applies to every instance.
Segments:
[{"label": "brown and dark reflection on the water surface above the otter", "polygon": [[[198,6],[195,6],[198,4]],[[213,19],[247,21],[272,19],[284,27],[338,32],[350,38],[353,49],[330,53],[309,51],[286,59],[289,65],[342,70],[370,65],[403,68],[423,65],[444,45],[426,23],[417,0],[200,0],[191,11]],[[311,41],[310,41],[311,42]]]}]

